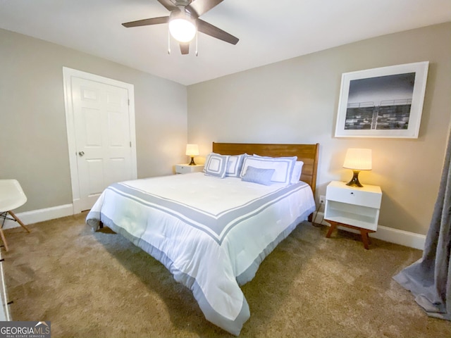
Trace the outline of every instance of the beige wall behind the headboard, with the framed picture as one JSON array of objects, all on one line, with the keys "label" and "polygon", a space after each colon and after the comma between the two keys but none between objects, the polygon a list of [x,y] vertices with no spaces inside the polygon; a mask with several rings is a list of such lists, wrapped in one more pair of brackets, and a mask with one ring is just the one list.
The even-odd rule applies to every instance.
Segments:
[{"label": "beige wall behind the headboard, with the framed picture", "polygon": [[[256,58],[259,56],[256,55]],[[429,61],[418,139],[335,138],[342,73]],[[380,185],[379,224],[426,234],[450,128],[451,23],[292,58],[188,87],[188,141],[320,144],[317,194],[349,180],[347,148],[373,150],[361,182]]]}]

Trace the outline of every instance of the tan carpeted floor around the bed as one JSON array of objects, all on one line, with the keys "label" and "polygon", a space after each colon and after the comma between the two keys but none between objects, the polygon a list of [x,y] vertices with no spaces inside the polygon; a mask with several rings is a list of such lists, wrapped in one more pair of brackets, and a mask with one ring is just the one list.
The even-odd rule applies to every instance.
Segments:
[{"label": "tan carpeted floor around the bed", "polygon": [[[85,213],[6,230],[13,320],[50,320],[51,337],[233,337],[154,258]],[[302,223],[242,290],[240,337],[451,337],[392,276],[421,251]],[[2,249],[4,250],[4,249]]]}]

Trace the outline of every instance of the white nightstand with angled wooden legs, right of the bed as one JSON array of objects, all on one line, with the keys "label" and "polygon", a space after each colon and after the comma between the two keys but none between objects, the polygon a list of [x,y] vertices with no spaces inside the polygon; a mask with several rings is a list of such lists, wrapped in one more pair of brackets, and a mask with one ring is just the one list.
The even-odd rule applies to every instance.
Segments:
[{"label": "white nightstand with angled wooden legs, right of the bed", "polygon": [[345,182],[330,182],[326,189],[324,220],[330,223],[326,237],[337,226],[359,230],[365,249],[368,249],[369,232],[376,232],[381,209],[381,187],[365,184],[349,187]]}]

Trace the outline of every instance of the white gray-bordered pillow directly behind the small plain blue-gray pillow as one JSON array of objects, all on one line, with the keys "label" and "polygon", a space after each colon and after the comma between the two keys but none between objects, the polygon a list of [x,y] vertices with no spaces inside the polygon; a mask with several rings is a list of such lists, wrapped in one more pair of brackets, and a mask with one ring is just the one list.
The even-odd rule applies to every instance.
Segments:
[{"label": "white gray-bordered pillow directly behind the small plain blue-gray pillow", "polygon": [[240,177],[246,173],[247,167],[261,169],[274,169],[271,182],[290,184],[293,168],[297,156],[292,157],[261,157],[261,156],[245,156],[242,162]]}]

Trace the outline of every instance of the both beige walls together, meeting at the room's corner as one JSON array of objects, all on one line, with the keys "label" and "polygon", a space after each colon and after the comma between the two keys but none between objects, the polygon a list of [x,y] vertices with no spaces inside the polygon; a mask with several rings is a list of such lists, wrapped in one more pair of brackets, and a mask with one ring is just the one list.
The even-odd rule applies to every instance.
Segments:
[{"label": "both beige walls together, meeting at the room's corner", "polygon": [[[373,149],[361,180],[381,185],[380,225],[426,234],[450,127],[451,23],[386,35],[185,87],[73,49],[0,30],[0,177],[17,178],[31,211],[70,204],[63,66],[135,85],[138,177],[186,161],[185,143],[321,144],[318,194],[349,147]],[[258,57],[258,56],[256,56]],[[333,137],[341,74],[430,61],[418,139]],[[188,101],[188,103],[187,103]]]}]

